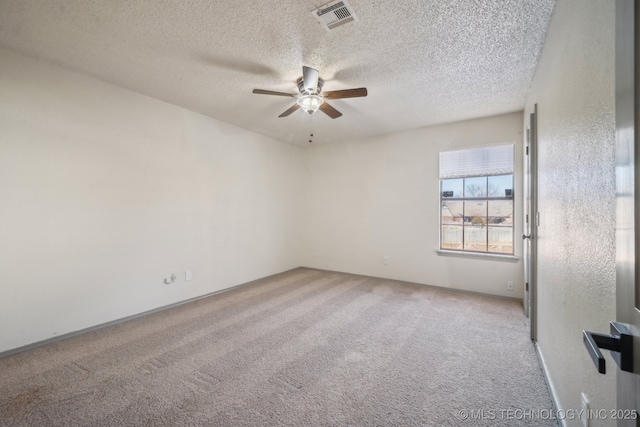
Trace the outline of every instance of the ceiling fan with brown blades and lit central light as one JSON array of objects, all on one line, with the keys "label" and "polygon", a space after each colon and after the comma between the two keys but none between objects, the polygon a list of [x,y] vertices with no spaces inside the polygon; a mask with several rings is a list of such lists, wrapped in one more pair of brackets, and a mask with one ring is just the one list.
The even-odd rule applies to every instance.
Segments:
[{"label": "ceiling fan with brown blades and lit central light", "polygon": [[297,84],[300,95],[296,93],[274,92],[272,90],[264,89],[254,89],[253,93],[297,98],[296,103],[278,117],[286,117],[298,108],[302,108],[303,111],[306,111],[309,114],[313,114],[320,110],[332,119],[337,119],[342,115],[342,113],[327,104],[327,101],[332,99],[359,98],[367,96],[367,88],[365,87],[321,92],[324,80],[320,78],[318,70],[305,66],[302,67],[302,77],[298,79]]}]

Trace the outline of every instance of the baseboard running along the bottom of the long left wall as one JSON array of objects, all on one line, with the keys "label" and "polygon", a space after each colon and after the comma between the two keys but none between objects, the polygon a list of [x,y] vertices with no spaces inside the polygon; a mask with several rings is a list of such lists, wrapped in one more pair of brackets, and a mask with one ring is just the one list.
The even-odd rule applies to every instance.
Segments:
[{"label": "baseboard running along the bottom of the long left wall", "polygon": [[5,350],[5,351],[0,352],[0,359],[2,359],[3,357],[11,356],[13,354],[22,353],[23,351],[27,351],[27,350],[31,350],[31,349],[34,349],[34,348],[42,347],[42,346],[45,346],[45,345],[48,345],[48,344],[52,344],[54,342],[66,340],[68,338],[77,337],[78,335],[86,334],[86,333],[97,331],[97,330],[104,329],[104,328],[108,328],[109,326],[114,326],[114,325],[117,325],[119,323],[127,322],[129,320],[139,319],[141,317],[149,316],[150,314],[158,313],[160,311],[167,310],[169,308],[174,308],[174,307],[181,306],[183,304],[188,304],[190,302],[198,301],[198,300],[201,300],[203,298],[208,298],[208,297],[211,297],[211,296],[214,296],[214,295],[218,295],[218,294],[221,294],[221,293],[224,293],[224,292],[232,291],[234,289],[242,288],[244,286],[249,286],[249,285],[252,285],[252,284],[254,284],[254,283],[258,282],[258,281],[265,280],[265,279],[271,279],[271,278],[276,277],[276,276],[278,276],[280,274],[285,274],[285,273],[288,273],[290,271],[297,270],[298,268],[300,268],[300,267],[292,268],[290,270],[282,271],[282,272],[276,273],[276,274],[271,274],[269,276],[265,276],[265,277],[261,277],[259,279],[251,280],[251,281],[246,282],[246,283],[241,283],[239,285],[231,286],[229,288],[220,289],[218,291],[210,292],[208,294],[204,294],[204,295],[200,295],[200,296],[197,296],[197,297],[189,298],[189,299],[186,299],[186,300],[183,300],[183,301],[178,301],[178,302],[175,302],[175,303],[172,303],[172,304],[168,304],[168,305],[164,305],[164,306],[161,306],[161,307],[158,307],[158,308],[154,308],[154,309],[151,309],[151,310],[148,310],[148,311],[143,311],[142,313],[132,314],[131,316],[126,316],[126,317],[122,317],[122,318],[119,318],[119,319],[116,319],[116,320],[111,320],[109,322],[100,323],[99,325],[90,326],[88,328],[80,329],[80,330],[73,331],[73,332],[68,332],[68,333],[62,334],[62,335],[57,335],[57,336],[52,337],[52,338],[47,338],[46,340],[36,341],[36,342],[34,342],[32,344],[27,344],[25,346],[12,348],[10,350]]}]

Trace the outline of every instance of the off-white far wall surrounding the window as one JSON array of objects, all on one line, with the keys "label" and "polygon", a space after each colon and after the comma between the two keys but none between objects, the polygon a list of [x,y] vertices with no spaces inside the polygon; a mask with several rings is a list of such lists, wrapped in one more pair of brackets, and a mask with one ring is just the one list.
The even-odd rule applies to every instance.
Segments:
[{"label": "off-white far wall surrounding the window", "polygon": [[[522,260],[441,256],[438,153],[516,144],[522,112],[422,128],[303,151],[307,172],[302,264],[474,292],[523,296]],[[521,162],[516,161],[520,174]],[[515,218],[522,217],[515,184]],[[522,234],[516,225],[515,236]],[[521,241],[515,240],[521,256]],[[384,265],[382,257],[388,256]],[[507,291],[508,280],[515,290]]]}]

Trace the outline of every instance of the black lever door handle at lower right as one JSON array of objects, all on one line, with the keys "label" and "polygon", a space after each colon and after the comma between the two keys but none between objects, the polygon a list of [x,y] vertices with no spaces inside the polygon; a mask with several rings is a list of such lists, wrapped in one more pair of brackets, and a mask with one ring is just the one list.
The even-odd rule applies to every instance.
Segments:
[{"label": "black lever door handle at lower right", "polygon": [[633,372],[633,335],[622,323],[609,322],[611,334],[582,331],[582,342],[598,372],[606,373],[606,363],[600,349],[611,350],[611,357],[621,370]]}]

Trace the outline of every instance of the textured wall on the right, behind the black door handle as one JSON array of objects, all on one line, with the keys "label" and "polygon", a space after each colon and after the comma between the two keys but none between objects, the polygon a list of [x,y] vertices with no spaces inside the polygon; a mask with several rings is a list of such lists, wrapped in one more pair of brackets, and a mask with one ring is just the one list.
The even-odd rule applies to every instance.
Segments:
[{"label": "textured wall on the right, behind the black door handle", "polygon": [[615,369],[599,375],[582,344],[615,319],[614,8],[558,1],[526,106],[539,111],[538,346],[562,409],[581,392],[616,407]]}]

